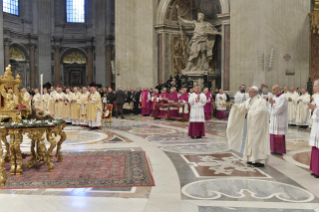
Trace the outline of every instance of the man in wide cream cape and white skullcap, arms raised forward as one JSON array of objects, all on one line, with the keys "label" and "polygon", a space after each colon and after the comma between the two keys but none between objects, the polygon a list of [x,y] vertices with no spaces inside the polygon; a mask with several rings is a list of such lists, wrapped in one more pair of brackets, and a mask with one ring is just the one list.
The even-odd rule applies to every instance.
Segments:
[{"label": "man in wide cream cape and white skullcap, arms raised forward", "polygon": [[244,104],[234,104],[230,110],[228,145],[241,152],[248,164],[262,167],[270,156],[269,112],[256,86],[249,89],[249,97]]}]

